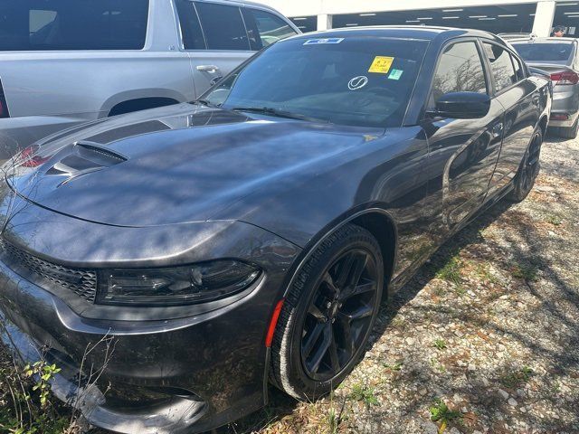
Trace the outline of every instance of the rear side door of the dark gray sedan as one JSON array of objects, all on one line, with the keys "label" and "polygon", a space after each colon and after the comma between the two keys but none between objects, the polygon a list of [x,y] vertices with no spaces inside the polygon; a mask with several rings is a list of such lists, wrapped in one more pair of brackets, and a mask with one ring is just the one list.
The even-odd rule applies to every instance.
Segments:
[{"label": "rear side door of the dark gray sedan", "polygon": [[516,54],[497,42],[484,41],[482,45],[492,72],[495,99],[505,109],[503,144],[489,185],[492,194],[517,175],[541,115],[541,95]]}]

